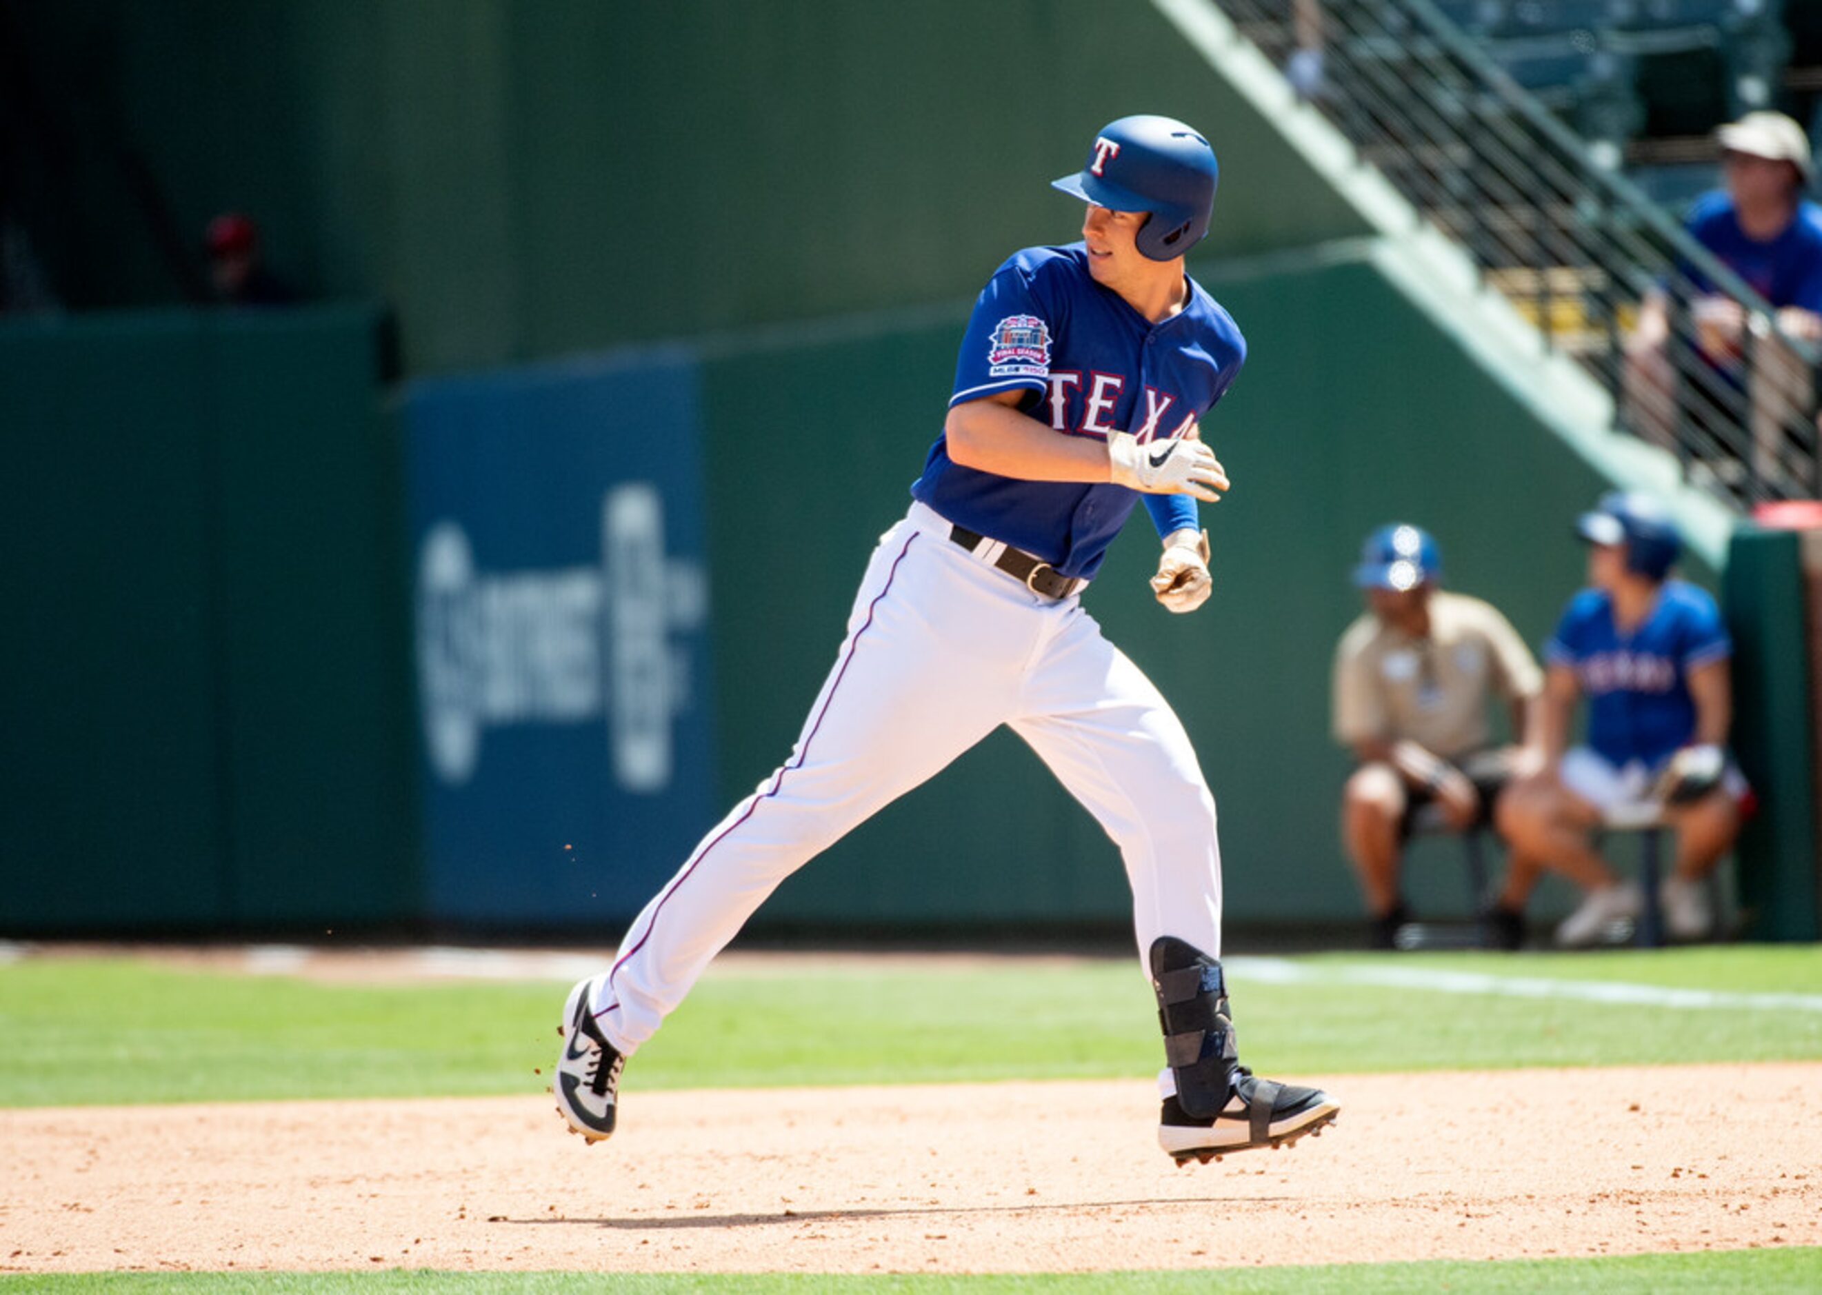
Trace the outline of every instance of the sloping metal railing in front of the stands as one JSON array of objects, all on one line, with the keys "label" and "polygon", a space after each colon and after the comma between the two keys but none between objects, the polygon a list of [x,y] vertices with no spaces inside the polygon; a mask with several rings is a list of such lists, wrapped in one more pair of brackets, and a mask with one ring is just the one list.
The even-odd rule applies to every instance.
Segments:
[{"label": "sloping metal railing in front of the stands", "polygon": [[1822,497],[1815,344],[1430,0],[1217,0],[1620,424],[1747,508]]}]

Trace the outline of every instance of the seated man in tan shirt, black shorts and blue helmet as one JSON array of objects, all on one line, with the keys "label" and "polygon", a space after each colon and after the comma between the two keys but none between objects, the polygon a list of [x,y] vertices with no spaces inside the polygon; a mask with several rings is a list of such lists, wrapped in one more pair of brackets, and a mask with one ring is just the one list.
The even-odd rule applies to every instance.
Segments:
[{"label": "seated man in tan shirt, black shorts and blue helmet", "polygon": [[[1343,792],[1341,836],[1376,949],[1394,947],[1410,920],[1397,874],[1416,812],[1434,801],[1458,831],[1490,827],[1543,690],[1510,621],[1478,597],[1438,588],[1439,577],[1441,554],[1427,532],[1381,526],[1354,570],[1368,612],[1336,647],[1336,741],[1359,760]],[[1492,739],[1492,692],[1512,709],[1510,745]],[[1503,898],[1481,914],[1487,940],[1516,949],[1523,900]]]}]

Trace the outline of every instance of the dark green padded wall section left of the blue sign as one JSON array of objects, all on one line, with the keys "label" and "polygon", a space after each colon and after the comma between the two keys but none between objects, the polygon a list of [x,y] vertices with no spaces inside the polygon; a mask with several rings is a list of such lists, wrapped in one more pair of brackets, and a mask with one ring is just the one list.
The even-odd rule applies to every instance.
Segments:
[{"label": "dark green padded wall section left of the blue sign", "polygon": [[379,317],[0,328],[0,927],[414,913]]}]

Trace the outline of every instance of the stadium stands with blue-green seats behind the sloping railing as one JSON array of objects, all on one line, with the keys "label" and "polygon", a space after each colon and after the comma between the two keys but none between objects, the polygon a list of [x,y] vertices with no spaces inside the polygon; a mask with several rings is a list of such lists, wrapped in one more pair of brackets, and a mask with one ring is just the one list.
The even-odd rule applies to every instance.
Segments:
[{"label": "stadium stands with blue-green seats behind the sloping railing", "polygon": [[[1813,410],[1760,390],[1756,377],[1716,379],[1702,362],[1687,315],[1702,284],[1733,295],[1758,339],[1775,324],[1771,308],[1680,229],[1687,200],[1718,182],[1716,126],[1764,107],[1822,107],[1822,15],[1807,13],[1822,5],[1221,4],[1363,160],[1463,244],[1545,344],[1607,386],[1620,426],[1647,435],[1633,397],[1622,399],[1622,353],[1640,301],[1662,288],[1678,311],[1678,413],[1673,432],[1647,439],[1667,437],[1689,479],[1736,506],[1822,492]],[[1787,25],[1786,7],[1806,13]],[[1784,333],[1767,353],[1784,348],[1813,362],[1811,348]]]}]

